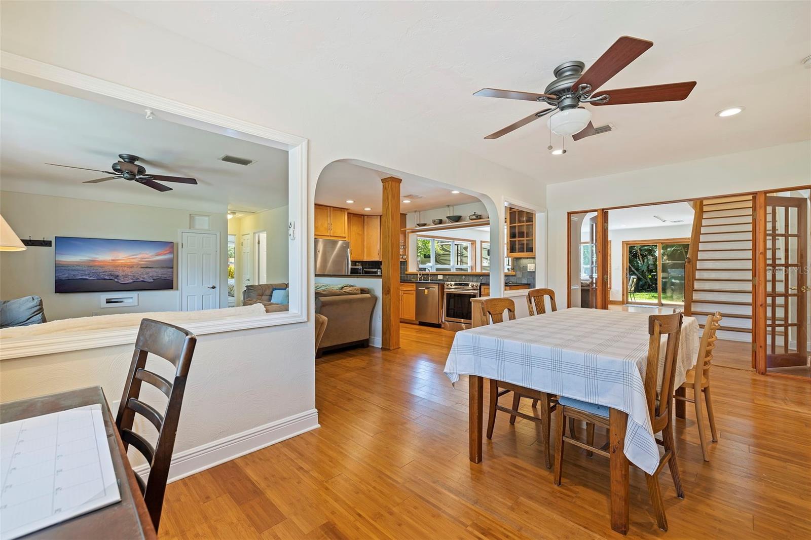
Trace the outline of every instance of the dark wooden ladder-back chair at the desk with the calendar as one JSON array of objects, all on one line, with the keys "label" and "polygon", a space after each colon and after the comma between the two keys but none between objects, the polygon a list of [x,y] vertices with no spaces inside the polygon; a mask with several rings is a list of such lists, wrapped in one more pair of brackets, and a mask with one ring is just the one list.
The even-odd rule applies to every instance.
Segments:
[{"label": "dark wooden ladder-back chair at the desk with the calendar", "polygon": [[[138,337],[135,338],[135,353],[132,355],[127,384],[124,385],[124,393],[115,418],[115,425],[118,427],[124,448],[132,445],[149,464],[147,482],[144,482],[138,474],[135,474],[135,480],[141,494],[144,495],[144,502],[156,532],[161,523],[163,495],[166,490],[166,478],[169,476],[169,464],[172,461],[174,435],[178,431],[183,391],[186,389],[186,378],[196,343],[197,336],[184,328],[153,319],[142,319]],[[172,362],[175,368],[173,380],[169,381],[146,369],[150,353]],[[141,401],[141,383],[152,384],[169,398],[163,414],[152,405]],[[157,429],[157,443],[154,447],[142,435],[132,431],[135,413],[146,418]]]}]

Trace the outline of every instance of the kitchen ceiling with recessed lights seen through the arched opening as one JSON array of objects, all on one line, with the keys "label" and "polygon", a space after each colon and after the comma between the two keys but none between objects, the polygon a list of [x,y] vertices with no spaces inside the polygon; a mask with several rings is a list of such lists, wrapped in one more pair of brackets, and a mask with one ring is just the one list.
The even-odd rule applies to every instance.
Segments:
[{"label": "kitchen ceiling with recessed lights seen through the arched opening", "polygon": [[[321,172],[315,187],[315,202],[369,215],[380,214],[383,206],[383,184],[381,178],[392,176],[382,171],[368,169],[351,163],[336,161]],[[465,193],[451,193],[452,190],[435,182],[421,181],[405,176],[400,185],[400,194],[405,199],[411,196],[410,203],[401,203],[401,212],[418,212],[441,208],[447,204],[470,204],[478,199]],[[352,200],[354,203],[347,203]],[[364,211],[363,208],[371,208]]]}]

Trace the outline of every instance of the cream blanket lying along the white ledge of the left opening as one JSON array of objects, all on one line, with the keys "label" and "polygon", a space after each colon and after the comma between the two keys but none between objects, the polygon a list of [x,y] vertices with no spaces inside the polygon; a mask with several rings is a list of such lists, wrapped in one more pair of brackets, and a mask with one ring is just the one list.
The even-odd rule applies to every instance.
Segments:
[{"label": "cream blanket lying along the white ledge of the left opening", "polygon": [[116,328],[131,328],[141,324],[141,319],[156,319],[164,323],[183,324],[217,319],[242,319],[243,317],[258,317],[266,315],[262,304],[251,306],[225,307],[218,310],[204,311],[151,311],[147,313],[117,313],[115,315],[98,315],[96,317],[78,317],[76,319],[60,319],[49,323],[32,324],[31,326],[18,326],[2,328],[0,339],[11,337],[48,336],[61,332],[93,332],[97,330],[114,330]]}]

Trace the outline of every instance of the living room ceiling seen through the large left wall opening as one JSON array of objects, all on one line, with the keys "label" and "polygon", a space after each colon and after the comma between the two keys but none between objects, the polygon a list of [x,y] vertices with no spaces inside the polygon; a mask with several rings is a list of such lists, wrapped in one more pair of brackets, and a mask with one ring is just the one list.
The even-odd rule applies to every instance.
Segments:
[{"label": "living room ceiling seen through the large left wall opening", "polygon": [[[217,135],[110,105],[0,80],[0,189],[75,199],[222,211],[257,211],[287,204],[287,152]],[[196,178],[159,192],[88,170],[109,170],[119,153],[143,158],[147,173]],[[224,154],[256,160],[219,161]]]}]

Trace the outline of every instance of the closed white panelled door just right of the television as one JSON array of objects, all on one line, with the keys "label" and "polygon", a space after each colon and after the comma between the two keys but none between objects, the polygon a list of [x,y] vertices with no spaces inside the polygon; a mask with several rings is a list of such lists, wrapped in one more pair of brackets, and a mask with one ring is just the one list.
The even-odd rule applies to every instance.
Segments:
[{"label": "closed white panelled door just right of the television", "polygon": [[184,232],[181,238],[180,309],[217,309],[220,307],[217,234]]}]

